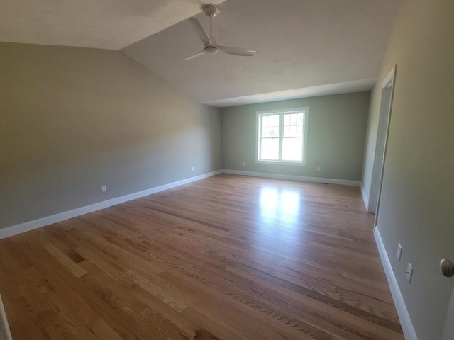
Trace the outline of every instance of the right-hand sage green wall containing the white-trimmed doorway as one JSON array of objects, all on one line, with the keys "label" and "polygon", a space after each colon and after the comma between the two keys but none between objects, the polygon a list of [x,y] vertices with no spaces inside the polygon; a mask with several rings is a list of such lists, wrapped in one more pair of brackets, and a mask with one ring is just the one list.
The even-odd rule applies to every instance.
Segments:
[{"label": "right-hand sage green wall containing the white-trimmed doorway", "polygon": [[380,84],[397,64],[378,227],[419,340],[441,339],[454,284],[438,272],[441,259],[454,259],[453,18],[452,0],[404,0],[371,101],[377,122]]}]

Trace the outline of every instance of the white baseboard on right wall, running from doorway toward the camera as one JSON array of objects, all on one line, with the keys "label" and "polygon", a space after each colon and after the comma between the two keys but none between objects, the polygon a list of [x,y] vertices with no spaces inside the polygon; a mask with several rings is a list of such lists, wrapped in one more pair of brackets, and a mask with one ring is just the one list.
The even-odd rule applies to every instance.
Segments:
[{"label": "white baseboard on right wall, running from doorway toward the camera", "polygon": [[380,253],[380,258],[382,259],[384,273],[386,273],[389,288],[391,289],[392,300],[394,300],[394,305],[396,305],[396,310],[397,314],[399,315],[402,331],[404,331],[404,337],[406,340],[418,340],[416,331],[414,330],[413,324],[411,323],[410,314],[406,309],[404,297],[402,297],[399,285],[397,284],[396,276],[394,276],[394,272],[392,271],[391,262],[389,262],[389,257],[387,255],[386,249],[384,249],[380,230],[377,226],[374,228],[374,236],[375,243],[377,243],[378,252]]}]

